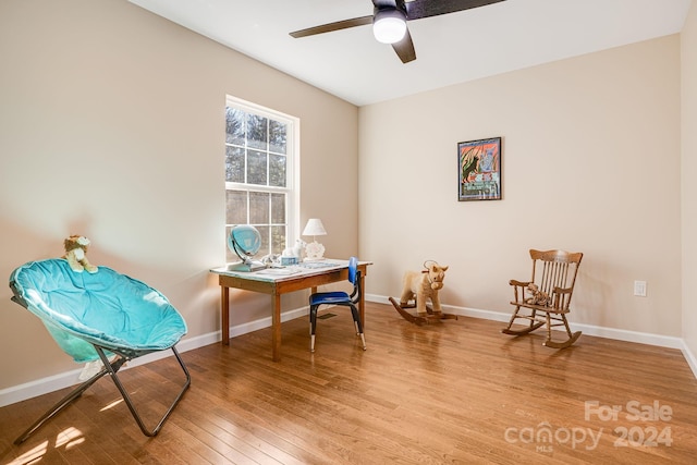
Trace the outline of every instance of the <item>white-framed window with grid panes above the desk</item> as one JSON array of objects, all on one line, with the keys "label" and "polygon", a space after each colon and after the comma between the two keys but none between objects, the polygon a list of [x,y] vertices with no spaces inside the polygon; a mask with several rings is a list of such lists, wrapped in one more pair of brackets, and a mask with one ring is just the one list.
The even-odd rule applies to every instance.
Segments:
[{"label": "white-framed window with grid panes above the desk", "polygon": [[[235,224],[261,234],[259,256],[280,254],[297,237],[297,120],[228,97],[225,237]],[[227,261],[237,257],[227,249]]]}]

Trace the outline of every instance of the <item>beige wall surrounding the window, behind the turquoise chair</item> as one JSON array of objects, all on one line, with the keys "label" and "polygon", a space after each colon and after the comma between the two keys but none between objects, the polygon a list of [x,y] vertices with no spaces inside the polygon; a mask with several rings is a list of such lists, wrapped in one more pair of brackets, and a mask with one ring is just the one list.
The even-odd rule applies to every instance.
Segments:
[{"label": "beige wall surrounding the window, behind the turquoise chair", "polygon": [[[94,264],[168,295],[187,338],[219,330],[225,94],[301,119],[302,221],[323,220],[328,254],[357,252],[355,106],[122,0],[4,0],[0,57],[0,276],[81,233]],[[0,390],[78,368],[10,296]],[[270,316],[268,296],[236,297],[233,326]]]}]

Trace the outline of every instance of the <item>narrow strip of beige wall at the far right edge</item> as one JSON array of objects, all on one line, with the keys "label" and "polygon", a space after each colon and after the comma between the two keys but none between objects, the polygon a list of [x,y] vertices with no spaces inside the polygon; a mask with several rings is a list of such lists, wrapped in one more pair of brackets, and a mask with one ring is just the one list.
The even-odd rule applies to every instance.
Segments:
[{"label": "narrow strip of beige wall at the far right edge", "polygon": [[[682,39],[683,178],[683,338],[697,356],[697,3],[693,2]],[[695,363],[695,362],[693,362]],[[695,368],[693,368],[695,369]]]}]

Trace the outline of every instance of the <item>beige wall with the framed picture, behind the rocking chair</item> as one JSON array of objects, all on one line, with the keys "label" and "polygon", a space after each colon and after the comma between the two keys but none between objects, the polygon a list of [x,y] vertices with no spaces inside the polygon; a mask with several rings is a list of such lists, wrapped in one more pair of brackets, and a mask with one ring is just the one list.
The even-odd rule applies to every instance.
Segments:
[{"label": "beige wall with the framed picture, behind the rocking chair", "polygon": [[[510,314],[528,248],[563,248],[585,254],[573,322],[681,336],[680,83],[670,36],[362,107],[368,292],[433,259],[443,303]],[[494,136],[503,200],[458,203],[456,144]]]}]

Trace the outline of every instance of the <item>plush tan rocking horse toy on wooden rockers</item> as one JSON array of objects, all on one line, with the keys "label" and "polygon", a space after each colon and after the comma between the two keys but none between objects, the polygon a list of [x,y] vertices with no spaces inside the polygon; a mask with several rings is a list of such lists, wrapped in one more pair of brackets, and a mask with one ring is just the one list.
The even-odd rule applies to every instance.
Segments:
[{"label": "plush tan rocking horse toy on wooden rockers", "polygon": [[[396,311],[408,322],[423,325],[436,320],[457,319],[456,315],[443,314],[440,308],[438,291],[443,287],[448,267],[441,267],[433,260],[424,262],[421,271],[406,271],[400,302],[390,297]],[[426,304],[430,299],[432,308]],[[416,308],[416,315],[405,308]]]}]

